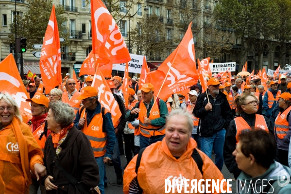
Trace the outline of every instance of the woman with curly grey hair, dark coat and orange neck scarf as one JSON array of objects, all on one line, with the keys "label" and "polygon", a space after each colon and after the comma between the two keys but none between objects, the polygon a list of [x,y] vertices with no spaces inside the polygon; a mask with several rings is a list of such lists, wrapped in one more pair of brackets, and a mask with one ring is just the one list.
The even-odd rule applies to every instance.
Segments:
[{"label": "woman with curly grey hair, dark coat and orange neck scarf", "polygon": [[43,179],[47,194],[85,193],[99,184],[91,144],[74,126],[74,117],[74,110],[66,103],[55,101],[49,106],[46,121],[51,136],[44,150],[48,175]]}]

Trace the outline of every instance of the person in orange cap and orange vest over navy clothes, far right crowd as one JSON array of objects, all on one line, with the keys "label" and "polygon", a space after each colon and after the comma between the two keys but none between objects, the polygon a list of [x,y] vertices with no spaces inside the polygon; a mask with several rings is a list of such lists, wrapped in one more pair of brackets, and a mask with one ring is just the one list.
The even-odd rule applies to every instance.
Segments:
[{"label": "person in orange cap and orange vest over navy clothes, far right crowd", "polygon": [[272,110],[277,104],[276,97],[281,95],[281,91],[278,90],[278,83],[275,81],[271,81],[270,88],[265,93],[263,99],[263,108],[265,109],[265,116],[270,118],[272,115]]}]

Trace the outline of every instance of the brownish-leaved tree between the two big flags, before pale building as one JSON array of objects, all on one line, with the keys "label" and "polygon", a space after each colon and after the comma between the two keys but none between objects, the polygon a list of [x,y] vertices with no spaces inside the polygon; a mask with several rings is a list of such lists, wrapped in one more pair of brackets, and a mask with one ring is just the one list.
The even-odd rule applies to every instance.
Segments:
[{"label": "brownish-leaved tree between the two big flags, before pale building", "polygon": [[144,53],[150,60],[163,55],[169,41],[166,39],[164,25],[155,14],[143,18],[130,32],[130,40],[137,47],[137,53]]}]

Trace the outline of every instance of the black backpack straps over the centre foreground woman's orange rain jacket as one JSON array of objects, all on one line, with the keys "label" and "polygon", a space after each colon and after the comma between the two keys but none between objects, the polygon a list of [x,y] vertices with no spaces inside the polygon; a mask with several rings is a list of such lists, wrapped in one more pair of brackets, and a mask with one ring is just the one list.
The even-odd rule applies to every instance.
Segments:
[{"label": "black backpack straps over the centre foreground woman's orange rain jacket", "polygon": [[[141,160],[141,157],[142,157],[142,153],[143,151],[145,150],[146,148],[142,148],[139,153],[138,153],[138,156],[137,156],[137,164],[136,164],[136,173],[138,172],[138,168],[140,166],[140,160]],[[194,161],[196,162],[197,166],[198,166],[198,169],[200,170],[200,173],[203,175],[203,171],[202,171],[202,167],[203,167],[203,160],[200,156],[200,154],[198,153],[197,149],[194,148],[193,149],[193,153],[191,155],[191,157],[194,159]],[[139,194],[142,194],[142,189],[139,187],[139,184],[138,184],[138,180],[137,180],[137,187],[138,187],[138,191],[139,191]]]}]

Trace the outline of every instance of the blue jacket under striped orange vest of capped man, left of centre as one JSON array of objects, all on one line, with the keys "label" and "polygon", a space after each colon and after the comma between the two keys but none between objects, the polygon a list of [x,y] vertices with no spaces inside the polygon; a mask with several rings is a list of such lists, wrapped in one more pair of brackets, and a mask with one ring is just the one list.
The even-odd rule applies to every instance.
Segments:
[{"label": "blue jacket under striped orange vest of capped man, left of centre", "polygon": [[[86,112],[87,112],[87,110],[86,110]],[[98,101],[97,101],[97,106],[95,108],[95,111],[94,111],[92,117],[90,117],[89,114],[86,114],[87,126],[90,124],[90,122],[92,121],[93,117],[96,114],[102,114],[101,113],[101,104]],[[80,115],[79,115],[79,111],[78,111],[76,114],[76,118],[74,120],[74,126],[77,127],[77,129],[81,130],[82,127],[79,126],[79,120],[80,120]],[[111,119],[111,113],[109,113],[109,112],[104,115],[103,129],[105,129],[105,133],[106,133],[106,153],[105,153],[104,157],[108,157],[108,158],[112,159],[113,148],[115,145],[115,131],[114,131],[114,127],[113,127],[113,123],[112,123],[112,119]]]}]

